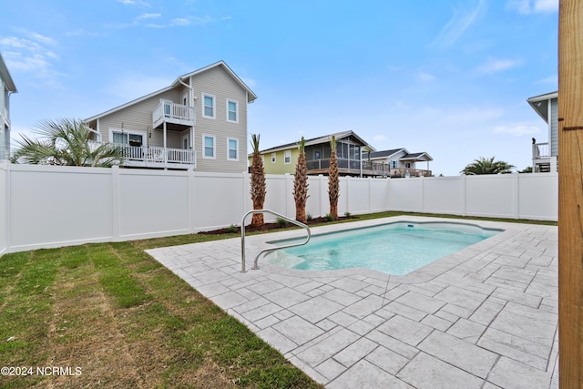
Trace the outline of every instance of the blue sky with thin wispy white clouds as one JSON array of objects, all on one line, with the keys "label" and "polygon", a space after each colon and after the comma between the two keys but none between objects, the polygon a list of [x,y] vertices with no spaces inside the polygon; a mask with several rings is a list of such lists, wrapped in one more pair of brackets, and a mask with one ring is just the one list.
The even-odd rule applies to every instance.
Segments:
[{"label": "blue sky with thin wispy white clouds", "polygon": [[258,99],[261,148],[352,129],[428,152],[435,175],[480,157],[530,165],[557,90],[558,0],[3,2],[12,136],[89,118],[224,60]]}]

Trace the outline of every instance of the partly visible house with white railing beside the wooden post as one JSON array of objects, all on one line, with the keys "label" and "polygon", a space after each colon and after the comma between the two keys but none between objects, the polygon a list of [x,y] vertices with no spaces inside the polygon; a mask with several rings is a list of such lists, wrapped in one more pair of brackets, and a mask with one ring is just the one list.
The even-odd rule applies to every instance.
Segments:
[{"label": "partly visible house with white railing beside the wooden post", "polygon": [[530,97],[527,102],[548,125],[547,142],[537,142],[537,139],[532,138],[532,171],[557,171],[558,92]]}]

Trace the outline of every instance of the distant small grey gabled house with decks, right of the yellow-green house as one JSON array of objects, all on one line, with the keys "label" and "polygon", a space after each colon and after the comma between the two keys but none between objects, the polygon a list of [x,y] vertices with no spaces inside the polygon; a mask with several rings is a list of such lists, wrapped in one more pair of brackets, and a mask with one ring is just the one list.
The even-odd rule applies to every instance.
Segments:
[{"label": "distant small grey gabled house with decks, right of the yellow-green house", "polygon": [[[434,160],[426,152],[410,153],[406,148],[365,153],[363,159],[369,160],[376,170],[382,169],[384,176],[391,178],[431,177],[429,161]],[[425,162],[427,169],[420,169],[418,162]]]}]

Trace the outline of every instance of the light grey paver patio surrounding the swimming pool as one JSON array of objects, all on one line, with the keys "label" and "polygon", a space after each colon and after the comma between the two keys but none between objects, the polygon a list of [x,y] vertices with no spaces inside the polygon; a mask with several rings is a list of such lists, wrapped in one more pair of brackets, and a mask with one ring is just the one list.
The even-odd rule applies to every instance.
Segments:
[{"label": "light grey paver patio surrounding the swimming pool", "polygon": [[296,271],[255,254],[302,230],[149,250],[163,265],[329,388],[548,388],[557,362],[557,227],[504,232],[404,276]]}]

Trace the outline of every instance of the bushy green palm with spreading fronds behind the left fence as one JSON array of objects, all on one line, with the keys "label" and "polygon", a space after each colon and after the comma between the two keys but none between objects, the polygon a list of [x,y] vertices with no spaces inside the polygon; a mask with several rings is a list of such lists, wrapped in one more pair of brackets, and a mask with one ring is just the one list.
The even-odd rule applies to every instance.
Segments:
[{"label": "bushy green palm with spreading fronds behind the left fence", "polygon": [[43,120],[33,132],[40,138],[21,135],[12,157],[13,163],[34,165],[87,166],[110,168],[124,159],[116,145],[91,144],[91,128],[87,123],[70,118]]}]

